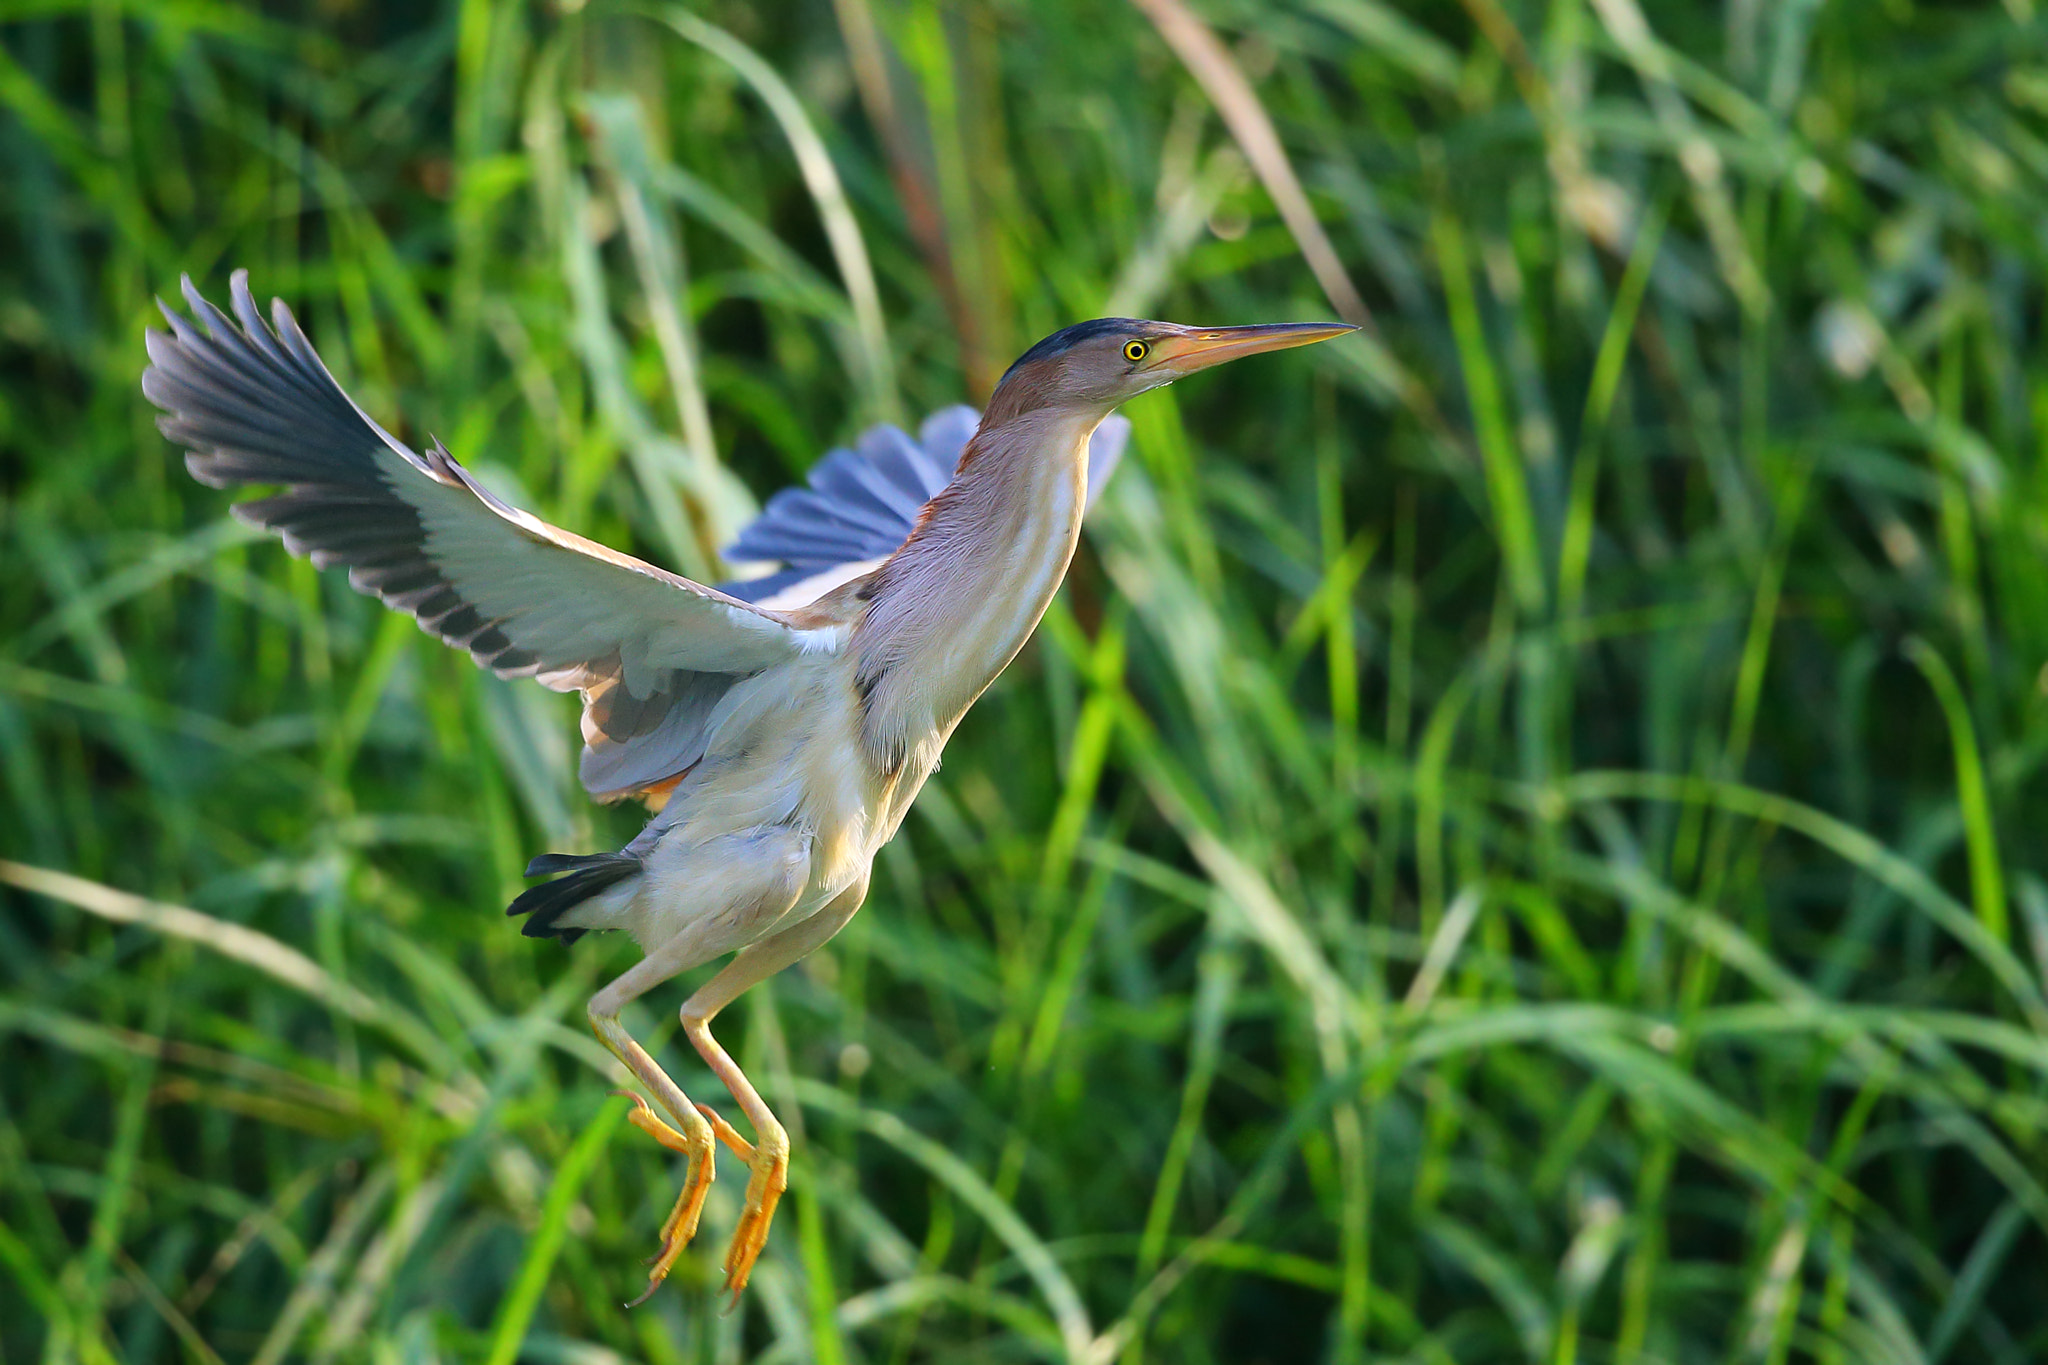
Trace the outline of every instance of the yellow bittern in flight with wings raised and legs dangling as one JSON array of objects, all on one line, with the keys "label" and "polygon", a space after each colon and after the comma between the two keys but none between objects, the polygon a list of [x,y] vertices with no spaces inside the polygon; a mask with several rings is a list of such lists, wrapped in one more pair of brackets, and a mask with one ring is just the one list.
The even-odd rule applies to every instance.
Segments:
[{"label": "yellow bittern in flight with wings raised and legs dangling", "polygon": [[[616,853],[543,853],[561,874],[508,913],[528,935],[625,929],[641,962],[590,1001],[596,1029],[662,1107],[631,1119],[686,1158],[641,1302],[696,1234],[715,1142],[748,1164],[725,1252],[737,1300],[788,1177],[788,1136],[711,1019],[829,939],[975,698],[1016,657],[1081,534],[1090,475],[1122,448],[1110,411],[1147,389],[1341,323],[1182,327],[1098,317],[1032,346],[987,411],[948,409],[834,452],[733,546],[768,579],[705,587],[520,512],[438,442],[416,452],[342,393],[283,301],[264,325],[236,272],[240,327],[190,280],[186,319],[150,332],[143,393],[203,483],[285,485],[233,508],[315,565],[410,612],[500,677],[584,696],[580,776],[655,817]],[[1094,446],[1092,446],[1094,440]],[[682,1029],[754,1126],[741,1138],[627,1036],[618,1011],[725,954]]]}]

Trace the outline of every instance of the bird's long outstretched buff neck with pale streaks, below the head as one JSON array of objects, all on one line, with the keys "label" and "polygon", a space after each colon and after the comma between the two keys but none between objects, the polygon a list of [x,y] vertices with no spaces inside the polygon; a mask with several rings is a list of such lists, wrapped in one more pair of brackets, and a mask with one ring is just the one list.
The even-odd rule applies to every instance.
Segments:
[{"label": "bird's long outstretched buff neck with pale streaks, below the head", "polygon": [[1087,438],[1104,413],[995,417],[991,403],[952,483],[870,579],[858,686],[881,749],[942,741],[1030,639],[1073,561]]}]

